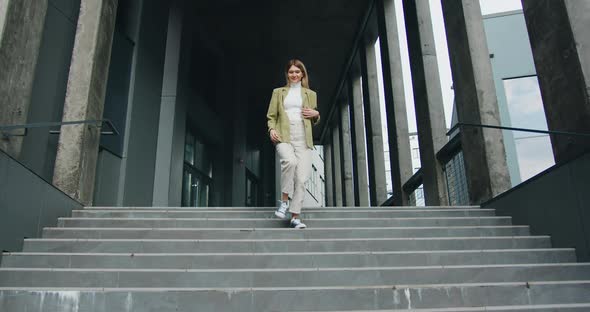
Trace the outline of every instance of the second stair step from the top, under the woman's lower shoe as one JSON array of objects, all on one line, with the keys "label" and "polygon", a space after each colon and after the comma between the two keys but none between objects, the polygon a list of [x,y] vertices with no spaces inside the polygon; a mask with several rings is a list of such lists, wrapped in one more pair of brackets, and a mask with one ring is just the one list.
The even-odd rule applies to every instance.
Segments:
[{"label": "second stair step from the top, under the woman's lower shoe", "polygon": [[[512,225],[510,217],[434,218],[323,218],[305,219],[310,228],[332,227],[423,227]],[[287,222],[267,218],[59,218],[59,227],[124,228],[285,228]]]}]

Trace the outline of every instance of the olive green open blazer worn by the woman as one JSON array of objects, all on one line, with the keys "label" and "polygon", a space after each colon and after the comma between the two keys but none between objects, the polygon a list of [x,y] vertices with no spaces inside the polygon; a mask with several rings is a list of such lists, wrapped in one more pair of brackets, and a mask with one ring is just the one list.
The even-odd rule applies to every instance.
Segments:
[{"label": "olive green open blazer worn by the woman", "polygon": [[[274,129],[281,137],[282,143],[289,143],[291,141],[291,132],[289,130],[289,117],[285,113],[284,100],[289,93],[289,87],[276,88],[272,91],[272,98],[268,105],[268,112],[266,113],[266,119],[268,120],[268,131]],[[317,94],[308,89],[301,87],[301,98],[303,99],[303,107],[316,109],[318,107]],[[317,125],[320,122],[320,116],[313,118],[313,125]],[[312,120],[304,118],[303,124],[305,127],[305,143],[307,147],[313,148],[313,137],[312,137]]]}]

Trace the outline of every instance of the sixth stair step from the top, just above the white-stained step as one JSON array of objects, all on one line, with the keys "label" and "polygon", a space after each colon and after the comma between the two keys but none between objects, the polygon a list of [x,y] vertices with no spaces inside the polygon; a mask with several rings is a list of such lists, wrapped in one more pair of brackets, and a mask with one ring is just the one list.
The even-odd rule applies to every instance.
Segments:
[{"label": "sixth stair step from the top, just above the white-stained step", "polygon": [[590,280],[590,264],[289,269],[0,268],[0,287],[301,287]]}]

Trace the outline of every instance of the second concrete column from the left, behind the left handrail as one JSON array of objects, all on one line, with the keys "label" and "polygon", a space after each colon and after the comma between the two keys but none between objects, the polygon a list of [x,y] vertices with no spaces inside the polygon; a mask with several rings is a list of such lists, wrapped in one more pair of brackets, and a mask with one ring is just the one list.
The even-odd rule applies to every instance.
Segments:
[{"label": "second concrete column from the left, behind the left handrail", "polygon": [[[117,0],[82,0],[63,121],[101,119],[111,57]],[[92,204],[100,128],[61,128],[53,184],[85,205]]]}]

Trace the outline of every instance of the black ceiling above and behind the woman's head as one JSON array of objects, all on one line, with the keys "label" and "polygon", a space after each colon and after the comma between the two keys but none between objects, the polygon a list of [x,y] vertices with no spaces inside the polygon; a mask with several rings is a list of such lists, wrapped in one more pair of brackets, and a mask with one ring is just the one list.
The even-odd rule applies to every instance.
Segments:
[{"label": "black ceiling above and behind the woman's head", "polygon": [[211,47],[250,69],[247,98],[254,103],[248,105],[262,118],[272,89],[285,84],[283,67],[291,58],[305,63],[325,116],[371,2],[194,1],[191,18]]}]

